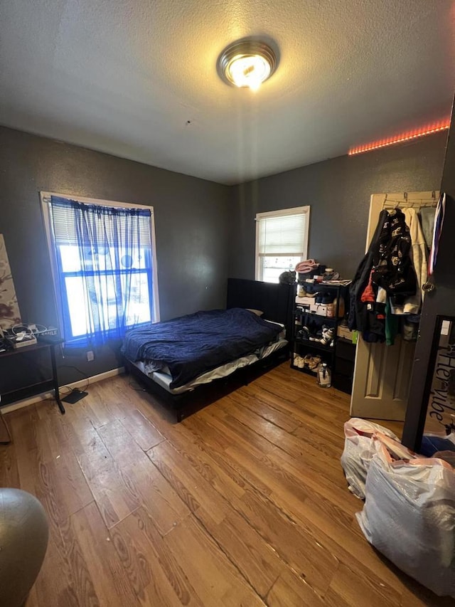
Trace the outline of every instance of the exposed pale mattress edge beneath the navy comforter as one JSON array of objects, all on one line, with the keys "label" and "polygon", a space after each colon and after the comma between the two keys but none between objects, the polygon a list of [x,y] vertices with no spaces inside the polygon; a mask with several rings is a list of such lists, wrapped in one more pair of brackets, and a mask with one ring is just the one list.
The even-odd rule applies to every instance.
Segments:
[{"label": "exposed pale mattress edge beneath the navy comforter", "polygon": [[200,386],[201,384],[209,384],[210,381],[213,381],[214,379],[221,379],[222,377],[227,377],[234,371],[237,371],[237,369],[242,369],[242,367],[253,364],[259,360],[266,359],[273,352],[277,352],[277,350],[287,346],[287,339],[284,339],[285,334],[286,331],[283,330],[282,333],[279,334],[279,339],[276,342],[262,347],[262,349],[257,351],[255,354],[248,354],[245,357],[240,357],[234,361],[230,361],[221,366],[218,366],[216,369],[207,371],[206,373],[201,374],[192,381],[189,381],[188,384],[185,384],[184,386],[178,386],[178,388],[170,387],[172,381],[171,374],[164,373],[163,371],[147,371],[147,364],[144,361],[132,362],[132,364],[134,364],[137,369],[144,373],[144,375],[149,377],[149,379],[152,379],[156,382],[156,384],[159,384],[161,388],[164,388],[167,392],[169,392],[169,394],[183,394],[184,392],[188,392],[195,389],[196,386]]}]

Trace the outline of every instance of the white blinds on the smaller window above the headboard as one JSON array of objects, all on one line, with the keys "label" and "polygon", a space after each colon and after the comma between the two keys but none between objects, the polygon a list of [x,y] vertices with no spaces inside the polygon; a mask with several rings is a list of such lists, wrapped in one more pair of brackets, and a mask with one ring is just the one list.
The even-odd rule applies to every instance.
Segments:
[{"label": "white blinds on the smaller window above the headboard", "polygon": [[306,257],[308,209],[309,207],[299,207],[277,213],[258,213],[257,253]]}]

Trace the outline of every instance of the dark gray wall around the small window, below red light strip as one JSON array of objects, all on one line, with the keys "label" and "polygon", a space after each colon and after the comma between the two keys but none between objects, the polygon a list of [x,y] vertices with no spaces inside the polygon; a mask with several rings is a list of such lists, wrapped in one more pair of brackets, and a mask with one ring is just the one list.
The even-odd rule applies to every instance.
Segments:
[{"label": "dark gray wall around the small window, below red light strip", "polygon": [[439,189],[446,139],[444,131],[235,186],[230,276],[255,278],[256,213],[309,204],[309,257],[352,278],[365,252],[370,195]]}]

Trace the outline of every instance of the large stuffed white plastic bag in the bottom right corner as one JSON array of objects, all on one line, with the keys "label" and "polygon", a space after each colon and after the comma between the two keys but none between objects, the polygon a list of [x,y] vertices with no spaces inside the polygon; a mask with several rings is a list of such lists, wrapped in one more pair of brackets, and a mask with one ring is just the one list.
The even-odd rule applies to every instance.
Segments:
[{"label": "large stuffed white plastic bag in the bottom right corner", "polygon": [[439,596],[455,598],[455,470],[443,460],[392,460],[382,445],[357,519],[370,544]]}]

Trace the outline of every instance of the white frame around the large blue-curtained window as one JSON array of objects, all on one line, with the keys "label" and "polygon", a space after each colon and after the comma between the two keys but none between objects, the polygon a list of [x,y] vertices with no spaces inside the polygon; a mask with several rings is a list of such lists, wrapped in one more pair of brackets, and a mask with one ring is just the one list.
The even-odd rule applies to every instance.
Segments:
[{"label": "white frame around the large blue-curtained window", "polygon": [[[85,196],[73,196],[72,194],[59,194],[57,192],[48,192],[41,191],[40,192],[40,201],[41,201],[41,213],[43,215],[44,229],[46,235],[46,241],[48,243],[48,252],[50,256],[50,268],[53,278],[53,296],[54,296],[54,304],[55,310],[58,316],[58,326],[60,327],[60,332],[63,330],[64,322],[63,322],[63,310],[59,302],[63,302],[67,300],[67,294],[62,287],[63,277],[58,273],[58,262],[57,255],[58,251],[55,247],[55,242],[52,233],[51,219],[50,219],[50,197],[55,196],[58,198],[63,198],[68,201],[73,200],[76,202],[80,202],[83,204],[95,204],[98,206],[107,206],[107,207],[119,207],[122,209],[147,209],[150,211],[150,238],[151,238],[151,261],[152,261],[152,300],[153,307],[151,312],[153,312],[153,317],[151,318],[151,322],[159,322],[160,320],[160,312],[159,312],[159,290],[158,290],[158,262],[156,259],[156,238],[155,238],[155,214],[154,207],[147,206],[145,204],[132,204],[129,202],[119,202],[112,200],[102,200],[102,199],[93,199],[87,198]],[[144,270],[141,270],[142,272]],[[122,270],[119,270],[121,273]],[[135,273],[139,273],[139,270]],[[77,342],[78,339],[83,339],[86,336],[74,337],[68,342]]]}]

